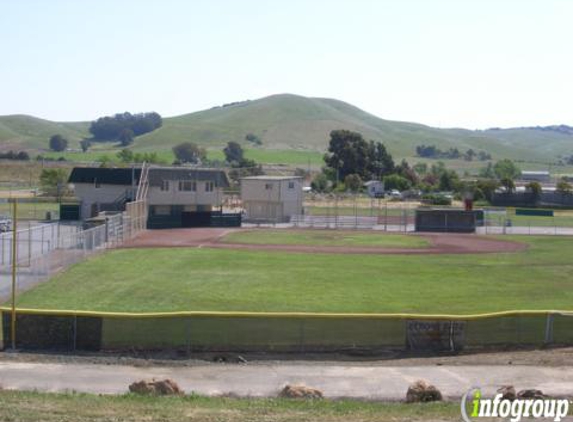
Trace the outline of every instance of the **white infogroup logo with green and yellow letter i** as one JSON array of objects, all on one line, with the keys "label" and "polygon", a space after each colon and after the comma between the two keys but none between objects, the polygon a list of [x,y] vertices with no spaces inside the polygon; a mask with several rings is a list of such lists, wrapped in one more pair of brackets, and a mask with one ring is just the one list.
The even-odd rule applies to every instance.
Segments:
[{"label": "white infogroup logo with green and yellow letter i", "polygon": [[479,418],[510,418],[519,422],[522,418],[544,418],[561,421],[569,413],[566,399],[504,399],[502,394],[484,398],[480,388],[469,389],[462,397],[461,413],[465,422]]}]

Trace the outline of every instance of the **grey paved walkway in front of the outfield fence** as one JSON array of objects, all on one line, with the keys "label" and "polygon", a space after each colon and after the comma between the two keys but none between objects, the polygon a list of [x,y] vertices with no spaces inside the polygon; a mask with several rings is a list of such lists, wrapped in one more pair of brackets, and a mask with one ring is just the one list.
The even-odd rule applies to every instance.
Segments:
[{"label": "grey paved walkway in front of the outfield fence", "polygon": [[447,399],[457,400],[471,387],[493,394],[502,385],[537,388],[551,396],[573,397],[573,367],[416,366],[384,367],[339,363],[205,364],[193,367],[133,367],[99,364],[0,362],[5,389],[127,392],[148,378],[171,378],[187,393],[272,397],[286,384],[321,389],[326,397],[402,400],[408,385],[420,378],[435,384]]}]

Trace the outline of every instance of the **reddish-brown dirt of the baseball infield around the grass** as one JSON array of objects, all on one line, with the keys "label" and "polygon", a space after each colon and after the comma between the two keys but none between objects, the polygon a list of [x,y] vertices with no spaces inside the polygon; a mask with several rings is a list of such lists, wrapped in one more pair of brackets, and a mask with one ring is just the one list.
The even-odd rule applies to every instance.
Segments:
[{"label": "reddish-brown dirt of the baseball infield around the grass", "polygon": [[[253,245],[244,243],[224,243],[221,238],[231,232],[241,230],[264,229],[167,229],[147,230],[136,238],[126,242],[123,248],[170,248],[170,247],[200,247],[237,250],[264,250],[302,253],[332,253],[332,254],[372,254],[372,255],[436,255],[436,254],[476,254],[476,253],[511,253],[527,248],[527,245],[474,234],[428,233],[412,234],[427,239],[427,248],[381,248],[371,246],[316,246],[316,245]],[[290,229],[284,229],[290,230]],[[366,231],[374,235],[373,231]],[[395,236],[395,234],[380,233],[380,236]]]}]

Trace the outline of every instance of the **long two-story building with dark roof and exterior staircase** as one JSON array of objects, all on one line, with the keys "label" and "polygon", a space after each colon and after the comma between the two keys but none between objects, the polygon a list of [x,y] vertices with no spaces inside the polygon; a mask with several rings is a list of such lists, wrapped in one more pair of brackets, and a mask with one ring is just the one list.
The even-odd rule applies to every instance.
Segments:
[{"label": "long two-story building with dark roof and exterior staircase", "polygon": [[[74,168],[68,181],[81,203],[80,218],[122,210],[135,199],[141,175],[141,168]],[[150,167],[146,183],[149,228],[211,225],[229,187],[222,170],[188,167]]]}]

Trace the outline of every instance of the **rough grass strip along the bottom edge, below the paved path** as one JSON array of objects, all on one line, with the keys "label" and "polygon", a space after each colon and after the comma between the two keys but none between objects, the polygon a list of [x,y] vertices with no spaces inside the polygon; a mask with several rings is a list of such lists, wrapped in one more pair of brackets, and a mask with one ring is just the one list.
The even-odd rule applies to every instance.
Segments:
[{"label": "rough grass strip along the bottom edge, below the paved path", "polygon": [[459,419],[458,403],[381,403],[111,396],[0,391],[0,419],[18,422],[401,422]]}]

